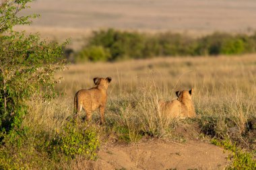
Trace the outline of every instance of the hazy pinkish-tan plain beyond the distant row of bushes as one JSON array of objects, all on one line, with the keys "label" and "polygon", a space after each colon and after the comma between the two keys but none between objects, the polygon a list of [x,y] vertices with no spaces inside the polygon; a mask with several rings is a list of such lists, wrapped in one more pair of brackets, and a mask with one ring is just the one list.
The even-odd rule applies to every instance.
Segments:
[{"label": "hazy pinkish-tan plain beyond the distant row of bushes", "polygon": [[23,15],[40,14],[31,26],[43,38],[72,38],[81,46],[92,30],[117,28],[143,32],[172,31],[192,35],[256,30],[255,0],[37,0]]}]

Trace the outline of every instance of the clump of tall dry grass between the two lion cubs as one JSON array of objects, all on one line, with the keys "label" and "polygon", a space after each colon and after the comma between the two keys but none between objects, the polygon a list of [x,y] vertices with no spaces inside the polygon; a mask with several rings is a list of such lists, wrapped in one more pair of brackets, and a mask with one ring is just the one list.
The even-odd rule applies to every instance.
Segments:
[{"label": "clump of tall dry grass between the two lion cubs", "polygon": [[119,142],[137,142],[143,137],[168,138],[177,127],[177,120],[168,119],[160,112],[156,99],[160,89],[147,84],[137,93],[110,103],[110,116],[106,117],[106,122]]}]

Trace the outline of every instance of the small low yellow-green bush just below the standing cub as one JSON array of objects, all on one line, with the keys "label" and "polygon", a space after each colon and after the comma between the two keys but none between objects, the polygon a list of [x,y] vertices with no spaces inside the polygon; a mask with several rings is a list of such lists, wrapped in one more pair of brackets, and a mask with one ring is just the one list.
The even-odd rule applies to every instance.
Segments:
[{"label": "small low yellow-green bush just below the standing cub", "polygon": [[94,160],[98,147],[99,140],[95,130],[85,129],[77,122],[67,122],[63,131],[49,143],[49,153],[53,157],[62,153],[67,160],[74,159],[77,155]]}]

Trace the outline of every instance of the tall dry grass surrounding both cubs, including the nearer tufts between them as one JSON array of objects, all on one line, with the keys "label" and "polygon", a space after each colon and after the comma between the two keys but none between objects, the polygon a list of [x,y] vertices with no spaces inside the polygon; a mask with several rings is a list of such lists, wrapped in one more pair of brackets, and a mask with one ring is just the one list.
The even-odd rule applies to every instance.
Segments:
[{"label": "tall dry grass surrounding both cubs, including the nearer tufts between them", "polygon": [[[161,115],[158,99],[175,99],[175,91],[193,87],[201,130],[224,137],[232,127],[245,132],[247,120],[255,117],[255,75],[255,55],[69,65],[56,75],[63,77],[57,85],[62,95],[51,103],[33,101],[33,115],[25,122],[56,132],[73,116],[75,92],[93,87],[94,77],[110,76],[113,81],[108,89],[106,126],[99,127],[104,132],[125,134],[125,138],[133,141],[139,140],[141,134],[168,136],[177,124]],[[94,114],[94,120],[99,120],[98,113]]]}]

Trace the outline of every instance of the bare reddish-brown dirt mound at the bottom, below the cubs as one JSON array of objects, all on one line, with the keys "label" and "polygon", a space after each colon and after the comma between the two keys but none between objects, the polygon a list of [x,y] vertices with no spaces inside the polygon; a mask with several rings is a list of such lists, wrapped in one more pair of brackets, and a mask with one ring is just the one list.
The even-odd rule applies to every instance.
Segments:
[{"label": "bare reddish-brown dirt mound at the bottom, below the cubs", "polygon": [[223,149],[199,140],[184,144],[151,140],[131,145],[106,144],[95,162],[77,161],[73,169],[224,169]]}]

